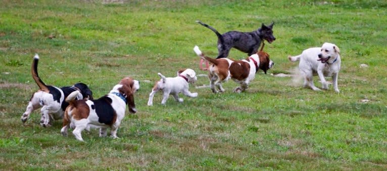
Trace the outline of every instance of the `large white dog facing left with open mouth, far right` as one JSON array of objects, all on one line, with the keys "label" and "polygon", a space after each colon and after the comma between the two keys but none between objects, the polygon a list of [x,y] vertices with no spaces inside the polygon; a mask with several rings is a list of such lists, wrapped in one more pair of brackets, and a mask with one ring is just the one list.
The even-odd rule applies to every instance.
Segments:
[{"label": "large white dog facing left with open mouth, far right", "polygon": [[318,75],[322,88],[328,89],[328,84],[324,77],[332,77],[333,89],[339,92],[337,87],[337,77],[342,63],[340,59],[340,49],[335,44],[324,43],[322,47],[312,47],[304,50],[300,55],[288,56],[292,62],[300,60],[299,69],[304,77],[304,87],[309,86],[315,91],[320,90],[313,84],[313,75]]}]

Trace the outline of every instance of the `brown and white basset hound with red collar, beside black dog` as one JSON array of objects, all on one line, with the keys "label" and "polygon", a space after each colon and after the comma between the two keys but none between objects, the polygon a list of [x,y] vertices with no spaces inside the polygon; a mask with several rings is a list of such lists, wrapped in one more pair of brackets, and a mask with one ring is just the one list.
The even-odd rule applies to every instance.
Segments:
[{"label": "brown and white basset hound with red collar, beside black dog", "polygon": [[220,92],[223,92],[222,83],[229,79],[240,84],[234,89],[234,92],[240,93],[249,87],[249,83],[255,78],[258,69],[262,69],[266,74],[266,71],[272,68],[274,63],[270,61],[269,54],[262,51],[262,49],[263,45],[256,54],[245,60],[236,61],[228,58],[212,59],[205,56],[198,46],[193,48],[196,54],[211,63],[208,77],[210,79],[210,88],[214,93],[218,92],[215,86]]}]

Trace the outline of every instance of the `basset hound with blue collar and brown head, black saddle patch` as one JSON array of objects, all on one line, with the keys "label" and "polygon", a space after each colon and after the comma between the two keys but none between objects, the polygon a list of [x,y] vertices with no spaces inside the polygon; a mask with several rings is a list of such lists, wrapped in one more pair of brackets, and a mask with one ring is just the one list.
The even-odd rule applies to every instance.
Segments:
[{"label": "basset hound with blue collar and brown head, black saddle patch", "polygon": [[96,100],[76,100],[79,91],[72,92],[66,99],[70,105],[66,108],[61,133],[67,136],[70,126],[75,138],[83,141],[81,132],[90,128],[100,128],[100,137],[107,135],[107,128],[111,128],[111,136],[117,138],[117,130],[125,117],[126,104],[129,112],[137,110],[134,104],[134,92],[139,89],[137,80],[130,77],[123,78],[109,94]]}]

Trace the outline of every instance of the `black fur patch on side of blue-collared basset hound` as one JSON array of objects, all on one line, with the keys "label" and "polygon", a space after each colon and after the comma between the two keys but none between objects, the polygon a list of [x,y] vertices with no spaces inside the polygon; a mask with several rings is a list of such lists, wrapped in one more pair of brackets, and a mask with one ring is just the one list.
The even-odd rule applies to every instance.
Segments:
[{"label": "black fur patch on side of blue-collared basset hound", "polygon": [[110,97],[103,96],[92,101],[94,102],[98,122],[106,125],[112,125],[114,117],[117,116],[116,111],[112,107],[112,99]]}]

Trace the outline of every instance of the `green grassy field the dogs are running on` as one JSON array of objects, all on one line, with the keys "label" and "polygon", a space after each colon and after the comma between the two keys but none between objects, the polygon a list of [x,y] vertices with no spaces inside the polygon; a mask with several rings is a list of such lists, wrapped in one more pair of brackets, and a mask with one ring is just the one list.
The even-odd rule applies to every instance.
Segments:
[{"label": "green grassy field the dogs are running on", "polygon": [[[387,3],[384,1],[1,1],[0,169],[2,170],[386,170]],[[217,55],[215,34],[253,31],[275,22],[277,38],[265,51],[275,62],[250,88],[213,94],[198,77],[197,98],[161,94],[147,106],[161,72],[197,74],[199,45]],[[335,43],[342,70],[332,86],[315,92],[289,74],[287,55]],[[85,142],[62,137],[62,121],[39,126],[40,110],[20,117],[37,90],[30,67],[58,87],[83,82],[94,97],[124,76],[141,82],[138,112],[127,112],[118,139],[83,132]],[[230,58],[246,58],[231,50]],[[361,64],[368,65],[361,68]],[[295,81],[296,80],[296,81]],[[330,78],[327,78],[331,81]],[[321,87],[318,78],[315,84]],[[70,130],[72,131],[72,130]]]}]

